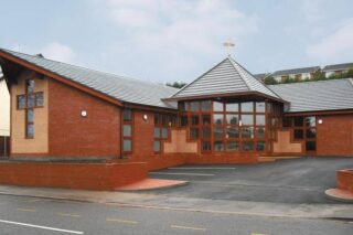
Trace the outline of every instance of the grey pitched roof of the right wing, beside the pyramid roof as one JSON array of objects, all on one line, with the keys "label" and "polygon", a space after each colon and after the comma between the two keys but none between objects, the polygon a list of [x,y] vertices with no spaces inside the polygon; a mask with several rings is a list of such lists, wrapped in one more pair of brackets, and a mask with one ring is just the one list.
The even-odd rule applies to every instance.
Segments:
[{"label": "grey pitched roof of the right wing, beside the pyramid roof", "polygon": [[353,79],[329,79],[269,86],[290,103],[289,113],[353,109]]}]

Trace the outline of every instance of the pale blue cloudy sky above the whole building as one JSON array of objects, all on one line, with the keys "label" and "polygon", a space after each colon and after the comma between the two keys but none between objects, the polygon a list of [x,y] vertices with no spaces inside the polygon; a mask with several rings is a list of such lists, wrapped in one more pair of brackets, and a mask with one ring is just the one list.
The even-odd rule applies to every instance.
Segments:
[{"label": "pale blue cloudy sky above the whole building", "polygon": [[0,0],[0,47],[156,83],[353,62],[352,0]]}]

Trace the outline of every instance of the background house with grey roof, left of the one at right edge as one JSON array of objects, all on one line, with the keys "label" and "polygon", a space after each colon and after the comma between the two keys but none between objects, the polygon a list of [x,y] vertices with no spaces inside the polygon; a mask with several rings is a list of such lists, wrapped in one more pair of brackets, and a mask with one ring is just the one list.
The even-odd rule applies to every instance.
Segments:
[{"label": "background house with grey roof, left of the one at right edge", "polygon": [[278,83],[285,83],[289,78],[296,81],[312,79],[314,77],[314,73],[319,71],[320,66],[300,67],[276,71],[271,73],[270,76],[272,76]]}]

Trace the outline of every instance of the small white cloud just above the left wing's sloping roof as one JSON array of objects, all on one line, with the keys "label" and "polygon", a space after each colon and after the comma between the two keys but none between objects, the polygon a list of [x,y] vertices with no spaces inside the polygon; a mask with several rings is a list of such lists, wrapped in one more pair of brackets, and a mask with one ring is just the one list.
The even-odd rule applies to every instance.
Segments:
[{"label": "small white cloud just above the left wing's sloping roof", "polygon": [[47,58],[66,63],[75,62],[74,51],[69,46],[61,44],[58,42],[51,42],[39,51],[44,55],[44,57]]}]

